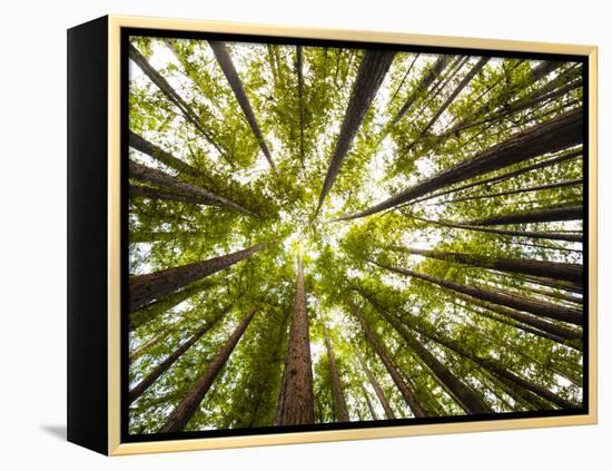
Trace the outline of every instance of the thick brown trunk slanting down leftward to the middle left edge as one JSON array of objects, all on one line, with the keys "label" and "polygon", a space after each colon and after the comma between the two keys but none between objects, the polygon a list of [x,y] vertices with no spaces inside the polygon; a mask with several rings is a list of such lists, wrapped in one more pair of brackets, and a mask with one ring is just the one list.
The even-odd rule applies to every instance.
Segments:
[{"label": "thick brown trunk slanting down leftward to the middle left edge", "polygon": [[205,278],[266,247],[260,243],[243,251],[203,262],[161,269],[147,275],[132,276],[129,281],[129,312],[138,311],[156,300],[174,293],[182,286]]}]

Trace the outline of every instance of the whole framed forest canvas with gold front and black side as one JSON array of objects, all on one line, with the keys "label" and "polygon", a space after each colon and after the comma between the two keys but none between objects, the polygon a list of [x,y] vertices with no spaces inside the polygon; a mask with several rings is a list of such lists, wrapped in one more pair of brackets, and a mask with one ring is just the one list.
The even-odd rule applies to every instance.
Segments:
[{"label": "whole framed forest canvas with gold front and black side", "polygon": [[596,49],[68,32],[68,439],[596,422]]}]

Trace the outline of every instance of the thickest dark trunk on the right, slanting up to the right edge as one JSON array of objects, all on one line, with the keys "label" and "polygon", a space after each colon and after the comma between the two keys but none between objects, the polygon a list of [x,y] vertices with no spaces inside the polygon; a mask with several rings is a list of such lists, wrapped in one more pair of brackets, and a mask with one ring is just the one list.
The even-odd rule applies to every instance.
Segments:
[{"label": "thickest dark trunk on the right, slanting up to the right edge", "polygon": [[582,143],[583,139],[582,115],[582,107],[566,111],[553,119],[517,133],[506,141],[483,150],[454,167],[438,171],[368,209],[335,220],[356,219],[376,214],[457,181],[488,174],[545,153],[554,153],[575,146]]}]

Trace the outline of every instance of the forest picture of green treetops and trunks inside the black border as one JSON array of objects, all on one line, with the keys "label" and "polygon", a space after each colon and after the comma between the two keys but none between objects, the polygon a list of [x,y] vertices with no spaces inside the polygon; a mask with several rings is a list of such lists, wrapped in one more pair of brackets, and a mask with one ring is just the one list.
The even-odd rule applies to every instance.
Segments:
[{"label": "forest picture of green treetops and trunks inside the black border", "polygon": [[129,432],[583,405],[583,65],[130,37]]}]

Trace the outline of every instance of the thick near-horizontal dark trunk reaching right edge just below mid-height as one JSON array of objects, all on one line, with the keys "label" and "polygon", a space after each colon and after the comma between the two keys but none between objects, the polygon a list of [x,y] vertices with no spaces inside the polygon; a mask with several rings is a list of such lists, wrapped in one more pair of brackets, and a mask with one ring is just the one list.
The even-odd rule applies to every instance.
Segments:
[{"label": "thick near-horizontal dark trunk reaching right edge just below mid-height", "polygon": [[574,263],[543,262],[529,258],[497,258],[461,252],[425,251],[422,248],[398,246],[385,246],[385,248],[445,262],[493,268],[500,272],[547,276],[549,278],[565,279],[574,283],[582,283],[583,279],[582,265]]}]

